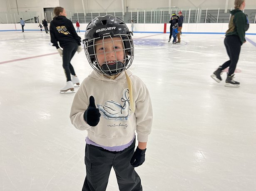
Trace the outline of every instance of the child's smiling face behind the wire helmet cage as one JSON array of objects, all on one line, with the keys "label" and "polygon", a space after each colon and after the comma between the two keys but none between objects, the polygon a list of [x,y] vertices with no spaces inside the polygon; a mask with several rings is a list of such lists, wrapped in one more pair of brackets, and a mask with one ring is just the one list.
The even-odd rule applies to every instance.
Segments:
[{"label": "child's smiling face behind the wire helmet cage", "polygon": [[120,37],[96,41],[95,53],[100,66],[104,63],[114,65],[116,61],[124,63],[124,46]]}]

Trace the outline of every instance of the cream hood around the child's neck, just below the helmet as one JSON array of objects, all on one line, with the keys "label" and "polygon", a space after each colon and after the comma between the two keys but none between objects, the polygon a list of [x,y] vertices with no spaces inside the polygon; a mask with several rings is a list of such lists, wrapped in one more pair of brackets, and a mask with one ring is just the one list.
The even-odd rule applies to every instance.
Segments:
[{"label": "cream hood around the child's neck, just below the helmet", "polygon": [[102,80],[105,82],[117,83],[117,82],[124,82],[127,80],[126,76],[125,76],[125,72],[128,74],[129,77],[132,75],[132,72],[130,70],[124,70],[119,74],[119,76],[117,76],[114,80],[112,80],[112,79],[108,78],[107,76],[103,75],[102,73],[99,73],[99,72],[93,70],[92,73],[90,73],[88,75],[88,77],[92,77],[94,79]]}]

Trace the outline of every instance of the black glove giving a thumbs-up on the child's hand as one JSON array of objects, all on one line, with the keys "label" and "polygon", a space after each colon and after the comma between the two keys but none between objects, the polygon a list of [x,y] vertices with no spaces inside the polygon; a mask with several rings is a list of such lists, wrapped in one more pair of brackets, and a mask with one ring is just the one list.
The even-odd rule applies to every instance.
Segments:
[{"label": "black glove giving a thumbs-up on the child's hand", "polygon": [[97,124],[99,123],[99,117],[100,117],[100,113],[99,113],[99,109],[96,108],[95,106],[94,97],[90,96],[89,106],[87,110],[85,110],[84,119],[89,126],[94,127],[94,126],[97,126]]}]

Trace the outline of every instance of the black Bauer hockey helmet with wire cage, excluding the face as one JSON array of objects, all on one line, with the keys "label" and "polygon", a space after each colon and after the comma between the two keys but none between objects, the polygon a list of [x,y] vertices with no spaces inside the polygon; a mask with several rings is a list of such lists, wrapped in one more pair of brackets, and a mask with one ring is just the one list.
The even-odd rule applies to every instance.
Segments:
[{"label": "black Bauer hockey helmet with wire cage, excluding the face", "polygon": [[[85,32],[85,39],[83,40],[85,54],[89,64],[94,70],[106,75],[116,75],[129,68],[134,57],[132,35],[133,34],[129,31],[127,25],[119,17],[113,15],[95,17],[88,24]],[[95,52],[95,45],[97,44],[97,41],[107,38],[111,38],[113,41],[114,37],[120,37],[122,39],[125,58],[123,60],[116,60],[114,65],[104,63],[100,66],[97,60],[97,53]],[[107,62],[106,55],[105,61]]]}]

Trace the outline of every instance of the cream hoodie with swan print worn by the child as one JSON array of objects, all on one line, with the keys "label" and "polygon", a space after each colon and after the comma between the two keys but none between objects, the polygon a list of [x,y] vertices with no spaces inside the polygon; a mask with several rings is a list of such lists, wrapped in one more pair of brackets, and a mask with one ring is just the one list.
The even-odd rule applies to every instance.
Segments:
[{"label": "cream hoodie with swan print worn by the child", "polygon": [[[149,91],[139,77],[127,70],[132,85],[135,113],[129,109],[129,90],[125,73],[111,80],[93,71],[80,85],[70,111],[71,123],[79,130],[87,130],[88,138],[103,146],[120,146],[129,143],[137,132],[139,142],[147,142],[151,132],[153,111]],[[97,126],[84,120],[84,112],[93,96],[100,111]]]}]

